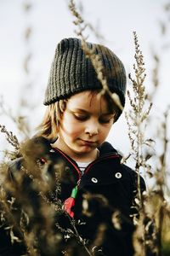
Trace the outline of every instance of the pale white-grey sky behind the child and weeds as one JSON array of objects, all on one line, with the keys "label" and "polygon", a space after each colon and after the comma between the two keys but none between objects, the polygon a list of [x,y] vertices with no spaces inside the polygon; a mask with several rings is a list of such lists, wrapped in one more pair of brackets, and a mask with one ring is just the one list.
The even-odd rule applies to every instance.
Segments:
[{"label": "pale white-grey sky behind the child and weeds", "polygon": [[[152,52],[161,57],[161,86],[156,95],[153,114],[160,119],[161,113],[169,104],[169,30],[163,37],[159,26],[166,21],[163,10],[166,0],[83,0],[83,17],[94,26],[99,26],[105,37],[104,44],[111,48],[124,63],[127,74],[133,72],[133,31],[139,36],[139,44],[144,54],[147,79],[146,89],[150,90],[151,70],[153,68]],[[23,3],[32,3],[26,13]],[[45,108],[42,105],[44,91],[48,82],[48,73],[54,56],[56,44],[62,38],[76,37],[72,24],[74,18],[64,0],[0,0],[0,95],[14,115],[22,113],[33,127],[42,119]],[[80,1],[75,1],[79,4]],[[166,21],[167,22],[167,21]],[[26,44],[24,33],[31,26],[31,37]],[[169,25],[170,27],[170,25]],[[88,41],[98,42],[93,33],[87,31]],[[167,47],[167,48],[166,48]],[[23,62],[31,52],[30,73],[23,72]],[[168,63],[168,64],[167,64]],[[31,88],[26,89],[26,84]],[[127,86],[131,86],[129,82]],[[19,108],[20,96],[35,106],[31,111]],[[128,106],[128,103],[127,103]],[[20,138],[14,123],[0,115],[0,124],[6,125],[8,131],[14,131]],[[154,134],[152,134],[155,136]],[[21,138],[20,138],[21,139]],[[127,126],[124,115],[113,126],[108,140],[124,154],[129,150]],[[0,134],[2,149],[6,147],[4,136]],[[1,149],[1,150],[2,150]],[[1,154],[1,153],[0,153]]]}]

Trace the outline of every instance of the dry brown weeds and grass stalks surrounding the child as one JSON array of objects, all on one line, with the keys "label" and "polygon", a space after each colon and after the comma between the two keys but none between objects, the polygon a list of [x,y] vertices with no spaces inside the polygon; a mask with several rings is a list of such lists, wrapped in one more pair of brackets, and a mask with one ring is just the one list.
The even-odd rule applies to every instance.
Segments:
[{"label": "dry brown weeds and grass stalks surrounding the child", "polygon": [[[30,9],[30,6],[25,6],[26,9]],[[119,98],[115,94],[111,94],[106,84],[106,79],[102,73],[102,65],[98,56],[94,55],[93,49],[88,49],[86,44],[86,37],[83,33],[87,24],[82,19],[82,16],[78,13],[75,3],[70,1],[70,9],[72,15],[75,17],[75,25],[77,26],[77,36],[82,39],[82,48],[86,55],[92,61],[98,79],[103,85],[103,93],[107,91],[112,100],[116,102],[119,108],[122,108]],[[133,215],[133,223],[136,226],[136,230],[133,234],[133,245],[135,249],[135,256],[147,256],[148,252],[155,252],[158,256],[168,256],[170,254],[170,205],[167,199],[170,196],[168,189],[167,173],[169,173],[169,165],[167,163],[168,157],[168,143],[167,131],[169,129],[167,124],[168,110],[164,113],[164,121],[161,124],[160,140],[162,144],[161,154],[154,156],[156,159],[156,169],[152,170],[152,166],[148,163],[150,158],[153,157],[150,154],[149,148],[152,146],[153,138],[145,137],[145,130],[150,115],[150,109],[152,104],[150,100],[153,97],[146,93],[144,86],[145,69],[144,69],[144,56],[140,50],[137,34],[134,32],[134,46],[135,46],[135,64],[133,66],[134,77],[129,76],[133,84],[133,92],[127,92],[131,110],[126,113],[128,136],[132,146],[131,152],[128,157],[132,157],[135,161],[135,171],[138,173],[136,180],[136,193],[134,196],[133,206],[139,212],[139,215]],[[30,37],[30,32],[27,31],[26,38]],[[26,59],[26,73],[28,73],[28,59]],[[159,57],[155,55],[156,68],[154,70],[153,84],[157,88],[159,85],[158,67]],[[10,116],[9,116],[10,117]],[[18,126],[20,132],[26,134],[26,125]],[[14,154],[9,159],[14,159],[20,155],[26,159],[26,164],[21,166],[21,172],[14,173],[14,180],[20,186],[15,186],[15,183],[11,183],[10,178],[6,178],[8,164],[1,164],[1,174],[5,179],[5,185],[1,185],[0,189],[0,210],[1,210],[1,224],[8,230],[11,241],[24,241],[27,247],[26,255],[37,256],[41,253],[59,253],[61,250],[61,241],[63,237],[69,240],[74,237],[77,241],[74,247],[78,247],[79,244],[84,247],[84,250],[88,255],[95,255],[96,247],[87,247],[88,241],[82,239],[77,231],[77,223],[67,216],[71,229],[62,229],[58,224],[58,216],[65,214],[63,212],[62,203],[59,199],[54,201],[55,195],[52,191],[55,191],[56,195],[60,193],[59,177],[61,176],[61,166],[53,166],[54,178],[48,180],[48,167],[51,165],[50,159],[48,159],[48,165],[45,167],[41,163],[37,162],[37,155],[32,154],[31,145],[29,143],[20,144],[18,139],[14,136],[12,131],[7,131],[4,125],[0,125],[1,132],[5,135],[10,143],[14,147]],[[149,128],[148,128],[149,129]],[[40,154],[42,154],[40,152]],[[35,165],[37,163],[37,165]],[[148,189],[143,193],[140,190],[140,172],[144,175],[149,175],[155,178],[155,184],[152,189]],[[32,205],[32,202],[28,198],[27,190],[25,188],[25,179],[29,177],[31,183],[28,187],[39,195],[38,208]],[[6,190],[14,195],[8,200]],[[51,192],[50,192],[51,191]],[[105,200],[101,195],[96,195],[96,200],[100,201],[105,207],[110,207],[109,202]],[[17,198],[17,202],[15,201]],[[88,202],[93,198],[93,195],[87,195],[83,201],[84,213],[92,214],[88,210]],[[113,209],[111,209],[113,211]],[[121,223],[119,219],[119,213],[113,211],[112,222],[116,229],[121,229]],[[50,216],[50,218],[49,218]],[[39,228],[38,219],[42,219],[43,226]],[[54,231],[54,227],[57,227]],[[94,244],[98,246],[101,244],[102,237],[105,236],[105,225],[99,226],[98,233],[96,234]],[[71,244],[72,246],[72,244]],[[70,253],[66,253],[65,251]],[[72,255],[71,248],[63,249],[64,255]]]}]

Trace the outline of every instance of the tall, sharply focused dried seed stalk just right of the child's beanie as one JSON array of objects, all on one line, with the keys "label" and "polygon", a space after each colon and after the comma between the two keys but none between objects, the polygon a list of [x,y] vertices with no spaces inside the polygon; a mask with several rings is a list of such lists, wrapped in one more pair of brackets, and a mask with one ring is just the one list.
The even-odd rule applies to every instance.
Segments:
[{"label": "tall, sharply focused dried seed stalk just right of the child's beanie", "polygon": [[[145,147],[150,146],[151,139],[144,137],[144,131],[146,128],[146,119],[150,114],[152,103],[146,102],[147,96],[145,93],[144,79],[145,79],[145,68],[144,68],[144,56],[139,48],[139,42],[136,32],[133,32],[134,46],[135,46],[135,64],[133,70],[135,77],[134,79],[129,74],[129,79],[133,84],[133,96],[127,91],[131,110],[130,113],[126,113],[127,126],[128,126],[128,137],[131,143],[131,153],[135,160],[135,171],[137,172],[136,178],[136,195],[134,196],[133,207],[139,212],[139,219],[133,216],[133,221],[137,224],[137,230],[134,234],[134,248],[135,256],[146,256],[148,249],[148,230],[146,230],[145,219],[147,219],[147,213],[144,205],[144,199],[141,191],[141,177],[140,171],[147,169],[147,159],[144,156]],[[146,107],[147,103],[147,107]],[[148,226],[150,225],[147,223]],[[136,237],[135,237],[136,236]],[[136,246],[136,247],[135,247]]]}]

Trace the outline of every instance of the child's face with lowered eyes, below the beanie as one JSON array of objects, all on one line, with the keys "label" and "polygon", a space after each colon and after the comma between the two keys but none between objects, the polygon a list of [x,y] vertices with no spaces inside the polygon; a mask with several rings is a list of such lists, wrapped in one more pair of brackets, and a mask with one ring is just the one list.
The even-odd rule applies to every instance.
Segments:
[{"label": "child's face with lowered eyes, below the beanie", "polygon": [[74,160],[94,160],[113,122],[114,114],[109,113],[104,97],[90,91],[77,93],[66,104],[54,146]]}]

